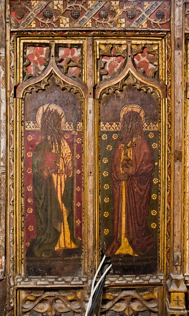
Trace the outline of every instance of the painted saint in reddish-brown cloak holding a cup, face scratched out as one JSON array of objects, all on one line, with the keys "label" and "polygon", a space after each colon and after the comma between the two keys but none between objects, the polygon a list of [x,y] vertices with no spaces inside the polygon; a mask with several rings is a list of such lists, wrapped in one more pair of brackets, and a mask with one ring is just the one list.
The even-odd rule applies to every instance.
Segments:
[{"label": "painted saint in reddish-brown cloak holding a cup, face scratched out", "polygon": [[121,138],[111,162],[113,240],[106,254],[142,255],[154,243],[147,226],[152,193],[154,157],[144,138],[144,112],[125,106]]}]

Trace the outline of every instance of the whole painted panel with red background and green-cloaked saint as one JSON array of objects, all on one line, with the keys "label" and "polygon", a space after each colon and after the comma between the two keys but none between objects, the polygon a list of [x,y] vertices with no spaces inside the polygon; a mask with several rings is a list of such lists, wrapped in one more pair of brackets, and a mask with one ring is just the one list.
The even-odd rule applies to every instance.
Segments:
[{"label": "whole painted panel with red background and green-cloaked saint", "polygon": [[52,77],[45,91],[26,96],[24,118],[27,274],[81,273],[81,94],[60,90]]}]

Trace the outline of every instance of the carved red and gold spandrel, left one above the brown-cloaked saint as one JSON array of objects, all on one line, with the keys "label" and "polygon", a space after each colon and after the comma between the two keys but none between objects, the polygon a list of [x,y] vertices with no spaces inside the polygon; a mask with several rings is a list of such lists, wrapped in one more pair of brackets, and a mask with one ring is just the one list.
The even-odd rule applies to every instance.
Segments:
[{"label": "carved red and gold spandrel, left one above the brown-cloaked saint", "polygon": [[97,61],[97,71],[100,83],[117,77],[123,70],[127,58],[127,45],[100,44],[100,58]]}]

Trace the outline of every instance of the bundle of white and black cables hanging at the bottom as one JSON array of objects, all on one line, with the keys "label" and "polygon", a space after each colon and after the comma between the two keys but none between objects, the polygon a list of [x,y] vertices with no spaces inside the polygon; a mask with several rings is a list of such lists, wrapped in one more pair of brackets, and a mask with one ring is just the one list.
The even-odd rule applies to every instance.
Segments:
[{"label": "bundle of white and black cables hanging at the bottom", "polygon": [[[101,260],[101,263],[97,269],[97,272],[95,273],[94,279],[92,281],[91,296],[90,296],[90,299],[89,299],[89,302],[88,302],[88,305],[86,308],[85,316],[93,316],[94,315],[99,299],[100,299],[100,305],[99,305],[98,316],[100,315],[102,296],[103,296],[103,286],[104,286],[104,283],[106,281],[106,274],[110,270],[111,267],[112,267],[112,264],[111,264],[110,258],[108,258],[108,257],[106,257],[106,255],[104,255],[104,257]],[[99,273],[99,280],[94,287],[98,273]]]}]

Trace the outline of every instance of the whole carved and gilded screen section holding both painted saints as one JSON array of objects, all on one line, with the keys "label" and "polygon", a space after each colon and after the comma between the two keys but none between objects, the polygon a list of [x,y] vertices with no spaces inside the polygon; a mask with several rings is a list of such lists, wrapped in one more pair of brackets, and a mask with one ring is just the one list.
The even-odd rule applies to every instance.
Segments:
[{"label": "whole carved and gilded screen section holding both painted saints", "polygon": [[101,314],[163,315],[169,1],[12,1],[11,14],[15,315],[84,315],[101,252],[112,263]]}]

